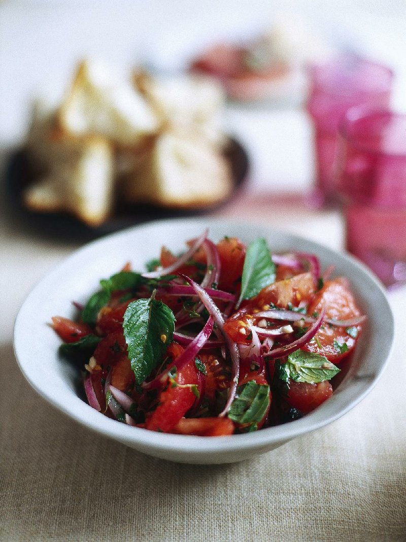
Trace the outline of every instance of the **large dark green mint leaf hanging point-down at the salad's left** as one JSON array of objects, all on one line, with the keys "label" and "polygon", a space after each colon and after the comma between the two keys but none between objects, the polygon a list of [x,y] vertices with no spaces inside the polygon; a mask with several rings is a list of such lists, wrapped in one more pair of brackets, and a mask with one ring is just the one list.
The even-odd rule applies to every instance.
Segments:
[{"label": "large dark green mint leaf hanging point-down at the salad's left", "polygon": [[123,331],[137,384],[144,382],[172,342],[175,316],[162,301],[137,299],[124,313]]}]

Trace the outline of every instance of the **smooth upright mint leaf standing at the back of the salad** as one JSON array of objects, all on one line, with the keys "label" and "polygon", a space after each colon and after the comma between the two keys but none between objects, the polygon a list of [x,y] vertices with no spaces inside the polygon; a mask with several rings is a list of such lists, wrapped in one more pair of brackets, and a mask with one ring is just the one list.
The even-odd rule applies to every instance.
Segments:
[{"label": "smooth upright mint leaf standing at the back of the salad", "polygon": [[275,282],[275,264],[270,257],[267,242],[259,237],[247,248],[242,270],[241,294],[236,308],[243,299],[253,298],[262,288],[273,282]]}]

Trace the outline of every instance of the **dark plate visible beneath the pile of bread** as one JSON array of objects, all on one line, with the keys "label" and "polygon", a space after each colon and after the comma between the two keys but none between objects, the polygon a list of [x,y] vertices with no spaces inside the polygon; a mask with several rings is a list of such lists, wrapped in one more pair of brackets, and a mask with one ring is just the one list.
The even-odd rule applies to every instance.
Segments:
[{"label": "dark plate visible beneath the pile of bread", "polygon": [[[249,162],[247,152],[235,139],[229,139],[224,151],[224,156],[229,160],[233,175],[233,193],[231,198],[239,190],[247,178]],[[10,210],[18,217],[18,220],[31,231],[35,229],[38,233],[67,237],[69,239],[92,239],[127,228],[131,225],[140,224],[158,218],[202,216],[214,209],[221,208],[226,201],[206,207],[204,209],[165,209],[156,205],[132,205],[126,208],[117,208],[109,220],[98,227],[91,227],[77,218],[66,213],[38,213],[25,208],[22,203],[22,190],[34,179],[29,160],[24,149],[13,153],[5,170],[5,184],[9,198]]]}]

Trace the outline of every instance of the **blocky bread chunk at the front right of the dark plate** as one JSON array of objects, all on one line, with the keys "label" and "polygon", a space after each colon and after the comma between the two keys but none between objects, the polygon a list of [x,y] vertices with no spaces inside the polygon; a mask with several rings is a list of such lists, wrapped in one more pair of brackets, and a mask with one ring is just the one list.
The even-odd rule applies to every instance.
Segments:
[{"label": "blocky bread chunk at the front right of the dark plate", "polygon": [[202,208],[229,196],[231,174],[227,160],[206,140],[166,132],[123,186],[130,202]]}]

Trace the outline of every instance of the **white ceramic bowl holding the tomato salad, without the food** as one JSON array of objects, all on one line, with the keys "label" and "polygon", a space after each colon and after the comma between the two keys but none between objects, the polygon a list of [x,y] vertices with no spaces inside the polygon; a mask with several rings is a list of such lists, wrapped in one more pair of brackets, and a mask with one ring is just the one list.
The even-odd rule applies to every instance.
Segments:
[{"label": "white ceramic bowl holding the tomato salad, without the food", "polygon": [[[301,250],[317,254],[321,267],[336,267],[347,276],[368,325],[357,345],[352,363],[333,396],[300,420],[256,433],[228,437],[198,437],[155,433],[134,428],[100,414],[75,391],[72,367],[57,356],[60,339],[47,325],[54,315],[73,317],[72,300],[85,302],[99,280],[131,261],[142,270],[156,257],[162,244],[175,252],[184,241],[209,226],[209,236],[239,236],[250,242],[263,236],[274,251]],[[383,288],[361,263],[317,243],[262,225],[227,220],[169,220],[127,229],[76,251],[49,273],[29,294],[18,313],[14,347],[20,368],[33,388],[49,403],[85,427],[120,441],[145,454],[185,463],[241,461],[281,446],[292,438],[314,431],[343,416],[376,384],[389,357],[394,319]]]}]

